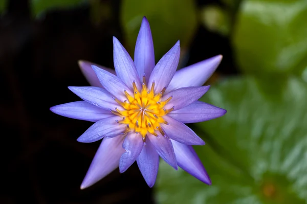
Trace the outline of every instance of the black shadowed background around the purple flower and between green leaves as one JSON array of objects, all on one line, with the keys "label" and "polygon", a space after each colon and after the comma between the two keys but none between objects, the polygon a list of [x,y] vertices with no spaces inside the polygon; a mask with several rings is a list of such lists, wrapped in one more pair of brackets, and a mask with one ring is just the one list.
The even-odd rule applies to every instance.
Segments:
[{"label": "black shadowed background around the purple flower and between green leaves", "polygon": [[[3,1],[3,0],[0,0]],[[53,114],[51,106],[79,100],[67,86],[89,85],[77,61],[113,67],[112,36],[123,44],[120,1],[101,1],[111,16],[99,25],[90,6],[54,9],[36,19],[30,3],[9,0],[0,18],[0,203],[154,203],[136,164],[80,190],[99,142],[76,139],[92,123]],[[219,1],[198,1],[198,6]],[[210,48],[210,49],[204,49]],[[217,74],[235,74],[228,38],[199,26],[187,64],[223,54]]]}]

